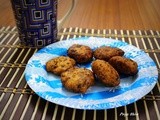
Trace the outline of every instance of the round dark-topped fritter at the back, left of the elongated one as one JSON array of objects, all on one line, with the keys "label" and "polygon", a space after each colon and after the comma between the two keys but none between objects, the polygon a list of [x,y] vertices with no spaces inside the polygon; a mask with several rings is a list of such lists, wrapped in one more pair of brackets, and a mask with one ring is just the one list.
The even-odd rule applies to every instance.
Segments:
[{"label": "round dark-topped fritter at the back, left of the elongated one", "polygon": [[77,63],[85,63],[92,60],[93,52],[89,46],[73,44],[68,49],[68,56],[75,59]]}]

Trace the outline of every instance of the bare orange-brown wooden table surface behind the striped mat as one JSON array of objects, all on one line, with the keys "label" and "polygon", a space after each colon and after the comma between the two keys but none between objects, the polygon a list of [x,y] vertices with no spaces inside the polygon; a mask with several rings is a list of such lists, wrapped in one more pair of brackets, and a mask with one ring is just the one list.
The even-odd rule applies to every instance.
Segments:
[{"label": "bare orange-brown wooden table surface behind the striped mat", "polygon": [[[160,30],[160,0],[77,0],[63,27]],[[0,26],[15,26],[10,0],[0,0]]]}]

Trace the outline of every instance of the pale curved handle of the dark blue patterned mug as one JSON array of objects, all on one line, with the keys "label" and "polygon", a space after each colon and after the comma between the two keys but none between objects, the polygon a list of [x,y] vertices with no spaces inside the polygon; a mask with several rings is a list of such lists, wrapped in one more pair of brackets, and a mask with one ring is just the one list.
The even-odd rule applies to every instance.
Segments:
[{"label": "pale curved handle of the dark blue patterned mug", "polygon": [[[58,2],[59,2],[59,0],[58,0]],[[70,8],[66,12],[66,14],[60,20],[57,21],[58,32],[62,28],[64,21],[70,16],[72,10],[75,8],[76,2],[77,2],[77,0],[72,0],[72,5],[70,5]]]}]

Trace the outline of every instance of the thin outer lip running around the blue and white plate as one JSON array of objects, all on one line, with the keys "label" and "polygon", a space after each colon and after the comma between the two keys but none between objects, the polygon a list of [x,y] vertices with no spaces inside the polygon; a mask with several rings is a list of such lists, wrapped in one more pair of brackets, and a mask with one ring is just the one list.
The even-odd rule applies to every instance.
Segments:
[{"label": "thin outer lip running around the blue and white plate", "polygon": [[[44,47],[44,48],[42,48],[42,49],[40,49],[40,50],[43,50],[43,49],[47,49],[47,48],[50,48],[50,47],[52,47],[52,46],[54,46],[55,44],[60,44],[60,43],[64,43],[64,42],[67,42],[67,41],[71,41],[72,40],[72,42],[73,41],[75,41],[75,42],[77,42],[77,40],[80,40],[80,41],[84,41],[84,39],[85,40],[93,40],[93,39],[104,39],[104,40],[112,40],[112,41],[119,41],[119,42],[123,42],[123,41],[121,41],[121,40],[115,40],[115,39],[109,39],[109,38],[100,38],[100,37],[81,37],[81,38],[73,38],[73,39],[69,39],[69,40],[63,40],[63,41],[59,41],[59,42],[56,42],[56,43],[52,43],[52,44],[50,44],[50,45],[48,45],[48,46],[46,46],[46,47]],[[127,42],[123,42],[123,43],[127,43]],[[131,45],[131,44],[128,44],[127,43],[127,45],[129,45],[129,46],[133,46],[133,47],[135,47],[134,45]],[[139,49],[139,48],[137,48],[137,47],[135,47],[136,49]],[[37,54],[40,50],[38,50],[36,53],[34,53],[33,55],[32,55],[32,57],[29,59],[29,61],[31,61],[32,60],[32,58],[33,58],[33,56],[35,55],[35,54]],[[139,49],[140,51],[143,51],[143,50],[141,50],[141,49]],[[146,53],[145,53],[146,54]],[[148,56],[152,61],[153,61],[153,59],[150,57],[150,56]],[[29,63],[29,61],[28,61],[28,63]],[[27,63],[27,65],[28,65],[28,63]],[[153,61],[153,63],[155,64],[155,62]],[[139,100],[139,99],[141,99],[143,96],[145,96],[145,95],[147,95],[153,88],[154,88],[154,86],[155,86],[155,84],[156,84],[156,82],[157,82],[157,80],[158,80],[158,69],[157,69],[157,66],[156,66],[156,64],[154,65],[154,67],[155,67],[155,69],[157,70],[157,76],[155,76],[155,80],[154,80],[154,83],[152,83],[152,87],[150,88],[150,91],[148,90],[146,93],[143,93],[143,95],[142,96],[140,96],[140,97],[137,97],[137,99],[133,99],[133,100],[130,100],[130,102],[129,103],[122,103],[122,104],[120,104],[120,105],[114,105],[114,103],[113,103],[113,106],[111,106],[111,107],[107,107],[108,105],[105,105],[105,103],[104,103],[104,106],[103,107],[97,107],[97,106],[89,106],[89,107],[87,107],[87,106],[75,106],[75,105],[68,105],[68,104],[65,104],[65,103],[59,103],[59,102],[56,102],[56,101],[53,101],[52,99],[46,99],[46,97],[45,97],[45,95],[44,94],[41,94],[40,92],[36,92],[35,90],[34,90],[34,88],[32,88],[32,85],[30,85],[29,83],[28,83],[28,78],[27,78],[27,75],[26,75],[26,69],[27,69],[27,65],[26,65],[26,68],[25,68],[25,80],[26,80],[26,82],[27,82],[27,84],[29,85],[29,87],[39,96],[39,97],[41,97],[41,98],[43,98],[43,99],[45,99],[45,100],[47,100],[47,101],[50,101],[50,102],[52,102],[52,103],[55,103],[55,104],[58,104],[58,105],[62,105],[62,106],[65,106],[65,107],[69,107],[69,108],[75,108],[75,109],[88,109],[88,110],[95,110],[95,109],[97,109],[97,110],[102,110],[102,109],[111,109],[111,108],[116,108],[116,107],[121,107],[121,106],[124,106],[124,105],[128,105],[128,104],[131,104],[131,103],[133,103],[133,102],[135,102],[135,101],[137,101],[137,100]],[[70,99],[70,98],[69,98]],[[126,101],[126,102],[128,102],[128,101]],[[111,103],[110,103],[111,104]],[[106,107],[105,107],[106,106]]]}]

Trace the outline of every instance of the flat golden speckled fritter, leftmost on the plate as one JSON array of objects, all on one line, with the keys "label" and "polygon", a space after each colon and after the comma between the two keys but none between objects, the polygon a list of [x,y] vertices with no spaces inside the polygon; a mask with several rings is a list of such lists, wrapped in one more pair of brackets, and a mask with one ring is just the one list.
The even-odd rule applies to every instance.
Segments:
[{"label": "flat golden speckled fritter, leftmost on the plate", "polygon": [[46,69],[48,72],[52,72],[56,75],[60,75],[62,72],[74,67],[76,61],[70,57],[60,56],[49,60],[46,63]]}]

